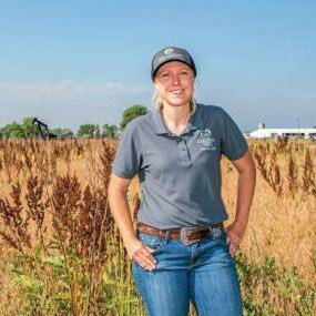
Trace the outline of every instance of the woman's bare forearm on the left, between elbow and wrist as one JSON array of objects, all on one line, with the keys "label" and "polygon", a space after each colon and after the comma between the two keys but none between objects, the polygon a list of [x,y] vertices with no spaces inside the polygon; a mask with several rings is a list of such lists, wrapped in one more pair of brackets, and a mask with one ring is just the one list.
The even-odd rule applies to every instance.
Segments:
[{"label": "woman's bare forearm on the left, between elbow and wrist", "polygon": [[118,190],[109,190],[109,204],[112,216],[118,225],[124,244],[126,245],[131,238],[135,238],[132,216],[130,213],[126,192]]}]

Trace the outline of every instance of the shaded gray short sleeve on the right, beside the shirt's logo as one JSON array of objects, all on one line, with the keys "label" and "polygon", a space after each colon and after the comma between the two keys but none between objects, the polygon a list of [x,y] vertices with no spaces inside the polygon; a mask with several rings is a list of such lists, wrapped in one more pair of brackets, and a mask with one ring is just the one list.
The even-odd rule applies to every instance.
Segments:
[{"label": "shaded gray short sleeve on the right, beside the shirt's logo", "polygon": [[228,160],[242,157],[248,150],[247,141],[234,120],[223,110],[222,153]]}]

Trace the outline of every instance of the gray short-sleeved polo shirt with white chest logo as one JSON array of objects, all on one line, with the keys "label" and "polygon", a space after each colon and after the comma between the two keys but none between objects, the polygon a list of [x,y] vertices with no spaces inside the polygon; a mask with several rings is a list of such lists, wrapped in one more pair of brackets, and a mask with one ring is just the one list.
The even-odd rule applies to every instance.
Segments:
[{"label": "gray short-sleeved polo shirt with white chest logo", "polygon": [[112,172],[139,175],[139,222],[161,230],[210,225],[228,217],[221,196],[221,156],[237,160],[246,151],[246,140],[222,108],[197,104],[180,136],[164,126],[157,111],[131,121]]}]

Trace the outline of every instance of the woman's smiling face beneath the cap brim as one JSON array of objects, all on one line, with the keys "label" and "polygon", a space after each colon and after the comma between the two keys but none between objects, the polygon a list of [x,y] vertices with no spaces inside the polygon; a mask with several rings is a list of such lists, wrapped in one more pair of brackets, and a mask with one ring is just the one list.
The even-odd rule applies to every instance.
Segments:
[{"label": "woman's smiling face beneath the cap brim", "polygon": [[171,61],[157,70],[154,84],[163,104],[188,105],[194,92],[194,73],[185,63]]}]

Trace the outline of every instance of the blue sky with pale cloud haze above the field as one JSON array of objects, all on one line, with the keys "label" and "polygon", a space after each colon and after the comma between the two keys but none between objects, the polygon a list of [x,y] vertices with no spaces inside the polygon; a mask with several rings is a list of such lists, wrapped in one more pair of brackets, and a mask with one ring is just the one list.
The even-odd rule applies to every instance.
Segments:
[{"label": "blue sky with pale cloud haze above the field", "polygon": [[185,48],[195,99],[242,131],[316,125],[314,0],[0,0],[0,126],[119,124],[151,111],[153,55]]}]

